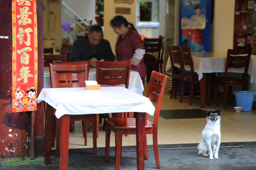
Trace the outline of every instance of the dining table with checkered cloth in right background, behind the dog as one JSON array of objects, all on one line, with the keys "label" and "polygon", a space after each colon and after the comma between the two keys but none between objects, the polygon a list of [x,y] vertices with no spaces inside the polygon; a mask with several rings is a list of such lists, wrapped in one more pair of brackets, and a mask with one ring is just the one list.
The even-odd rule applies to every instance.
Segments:
[{"label": "dining table with checkered cloth in right background, behind the dog", "polygon": [[[206,100],[206,83],[207,73],[224,73],[226,66],[227,53],[225,52],[191,52],[194,72],[198,74],[200,80],[200,95],[201,95],[201,108],[205,108]],[[171,67],[170,56],[167,60],[165,71]],[[174,64],[175,67],[180,68],[179,64]],[[190,67],[185,67],[185,70],[190,70]],[[243,73],[243,68],[230,68],[228,72]],[[250,76],[250,83],[254,83],[254,64],[253,59],[250,59],[248,68],[248,75]]]}]

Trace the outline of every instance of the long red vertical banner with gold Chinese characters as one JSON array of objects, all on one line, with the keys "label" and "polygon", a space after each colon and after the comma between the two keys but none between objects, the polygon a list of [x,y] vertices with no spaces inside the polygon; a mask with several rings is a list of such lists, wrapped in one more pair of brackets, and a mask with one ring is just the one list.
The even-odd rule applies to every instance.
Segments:
[{"label": "long red vertical banner with gold Chinese characters", "polygon": [[37,110],[37,0],[12,0],[12,112]]}]

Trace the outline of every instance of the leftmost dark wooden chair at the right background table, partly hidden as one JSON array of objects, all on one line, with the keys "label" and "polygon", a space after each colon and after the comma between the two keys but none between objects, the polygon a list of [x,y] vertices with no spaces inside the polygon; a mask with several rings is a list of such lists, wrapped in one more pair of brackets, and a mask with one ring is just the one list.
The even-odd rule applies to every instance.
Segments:
[{"label": "leftmost dark wooden chair at the right background table, partly hidden", "polygon": [[172,65],[172,89],[171,89],[171,95],[170,98],[172,99],[177,98],[177,89],[178,89],[178,80],[181,80],[181,84],[183,84],[183,76],[181,74],[181,71],[179,68],[175,67],[174,64],[179,64],[181,68],[182,57],[181,57],[181,51],[179,46],[172,46],[167,45],[169,54],[170,54],[170,60]]}]

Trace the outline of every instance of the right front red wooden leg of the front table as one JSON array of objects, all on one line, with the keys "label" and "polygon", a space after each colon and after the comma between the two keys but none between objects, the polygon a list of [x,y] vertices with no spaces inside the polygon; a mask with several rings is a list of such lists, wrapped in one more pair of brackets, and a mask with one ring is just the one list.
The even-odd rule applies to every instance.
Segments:
[{"label": "right front red wooden leg of the front table", "polygon": [[145,169],[145,114],[136,113],[137,170]]}]

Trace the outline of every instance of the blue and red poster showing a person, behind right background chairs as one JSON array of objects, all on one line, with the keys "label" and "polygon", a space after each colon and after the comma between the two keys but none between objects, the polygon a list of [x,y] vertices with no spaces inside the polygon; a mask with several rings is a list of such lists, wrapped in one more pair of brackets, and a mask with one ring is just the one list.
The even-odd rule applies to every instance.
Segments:
[{"label": "blue and red poster showing a person, behind right background chairs", "polygon": [[210,51],[210,0],[181,0],[179,45]]}]

